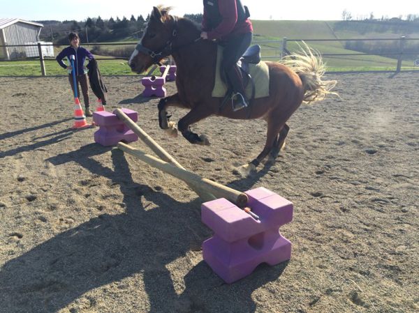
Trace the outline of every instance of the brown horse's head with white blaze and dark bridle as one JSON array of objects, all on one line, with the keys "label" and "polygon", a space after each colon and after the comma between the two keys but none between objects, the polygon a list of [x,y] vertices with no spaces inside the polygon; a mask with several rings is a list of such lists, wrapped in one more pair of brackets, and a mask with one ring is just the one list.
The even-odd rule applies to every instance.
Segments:
[{"label": "brown horse's head with white blaze and dark bridle", "polygon": [[169,10],[161,6],[153,8],[144,35],[128,61],[133,72],[143,72],[170,55],[177,34],[176,18],[168,14]]}]

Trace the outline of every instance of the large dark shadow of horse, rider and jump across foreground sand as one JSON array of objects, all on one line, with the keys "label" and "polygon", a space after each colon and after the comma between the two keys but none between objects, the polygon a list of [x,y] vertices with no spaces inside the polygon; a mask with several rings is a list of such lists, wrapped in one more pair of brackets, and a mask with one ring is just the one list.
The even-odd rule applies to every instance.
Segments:
[{"label": "large dark shadow of horse, rider and jump across foreground sand", "polygon": [[[168,264],[200,250],[211,235],[200,222],[199,199],[182,204],[133,182],[128,163],[117,149],[112,150],[115,171],[91,158],[104,151],[108,148],[89,144],[49,161],[54,165],[75,161],[109,178],[124,195],[125,212],[94,217],[8,261],[0,272],[0,312],[57,312],[76,305],[73,301],[98,287],[114,283],[124,288],[122,280],[140,273],[150,312],[254,312],[251,293],[276,280],[284,265],[263,273],[256,270],[227,285],[201,261],[186,274],[186,289],[178,295]],[[156,207],[147,210],[140,197]]]}]

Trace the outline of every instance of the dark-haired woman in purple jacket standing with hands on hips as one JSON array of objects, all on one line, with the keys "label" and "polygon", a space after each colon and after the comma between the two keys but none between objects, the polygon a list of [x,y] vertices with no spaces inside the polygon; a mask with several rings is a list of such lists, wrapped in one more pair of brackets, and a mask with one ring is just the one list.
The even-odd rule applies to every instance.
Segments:
[{"label": "dark-haired woman in purple jacket standing with hands on hips", "polygon": [[68,34],[68,41],[70,41],[70,46],[64,48],[58,55],[57,55],[57,62],[61,66],[61,68],[64,68],[68,70],[68,80],[71,84],[71,89],[73,89],[74,93],[74,84],[73,84],[73,77],[71,75],[71,70],[73,68],[70,66],[67,66],[66,63],[63,62],[63,59],[66,57],[68,61],[70,61],[70,56],[75,56],[75,80],[77,84],[77,91],[80,95],[80,89],[79,84],[82,88],[82,95],[84,100],[84,107],[86,108],[85,114],[86,116],[92,116],[91,110],[90,110],[90,100],[89,100],[89,81],[87,79],[87,70],[85,70],[84,67],[84,61],[86,61],[86,58],[90,60],[94,59],[93,54],[89,52],[88,49],[84,47],[80,47],[80,38],[77,33],[69,33]]}]

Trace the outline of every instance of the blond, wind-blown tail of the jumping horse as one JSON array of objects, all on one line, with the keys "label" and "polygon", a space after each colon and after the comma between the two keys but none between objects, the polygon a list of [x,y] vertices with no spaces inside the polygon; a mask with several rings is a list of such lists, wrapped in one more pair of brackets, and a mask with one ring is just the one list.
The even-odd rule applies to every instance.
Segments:
[{"label": "blond, wind-blown tail of the jumping horse", "polygon": [[304,103],[323,100],[328,94],[339,96],[331,91],[336,86],[336,80],[321,79],[325,73],[325,65],[320,54],[304,41],[302,46],[300,45],[300,52],[287,55],[279,62],[291,68],[300,77],[304,87]]}]

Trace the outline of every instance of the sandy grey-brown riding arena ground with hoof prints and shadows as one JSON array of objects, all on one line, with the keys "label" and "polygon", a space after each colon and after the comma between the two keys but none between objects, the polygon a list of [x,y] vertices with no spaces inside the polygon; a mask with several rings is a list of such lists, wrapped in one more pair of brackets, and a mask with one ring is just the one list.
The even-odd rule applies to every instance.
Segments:
[{"label": "sandy grey-brown riding arena ground with hoof prints and shadows", "polygon": [[71,130],[66,77],[1,77],[0,312],[418,312],[419,77],[326,78],[341,99],[301,107],[277,162],[242,178],[265,122],[210,118],[193,130],[212,145],[193,146],[159,130],[139,77],[105,77],[108,110],[137,111],[187,169],[293,202],[291,261],[225,284],[185,183]]}]

